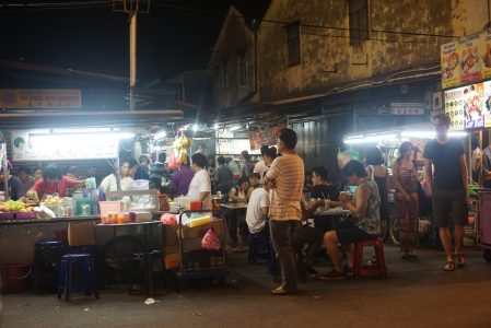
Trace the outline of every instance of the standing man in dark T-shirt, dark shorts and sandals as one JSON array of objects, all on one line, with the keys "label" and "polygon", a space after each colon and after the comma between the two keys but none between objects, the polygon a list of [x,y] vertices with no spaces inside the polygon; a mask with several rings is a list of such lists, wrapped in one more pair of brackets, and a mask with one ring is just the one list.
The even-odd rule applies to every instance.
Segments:
[{"label": "standing man in dark T-shirt, dark shorts and sandals", "polygon": [[[443,270],[454,271],[456,266],[466,266],[463,243],[464,225],[467,223],[467,164],[460,140],[448,138],[451,118],[439,114],[433,117],[433,126],[436,139],[428,142],[424,148],[424,173],[433,198],[434,219],[445,249],[446,262]],[[451,214],[455,223],[455,261],[448,231]]]}]

